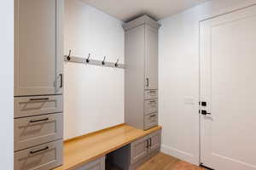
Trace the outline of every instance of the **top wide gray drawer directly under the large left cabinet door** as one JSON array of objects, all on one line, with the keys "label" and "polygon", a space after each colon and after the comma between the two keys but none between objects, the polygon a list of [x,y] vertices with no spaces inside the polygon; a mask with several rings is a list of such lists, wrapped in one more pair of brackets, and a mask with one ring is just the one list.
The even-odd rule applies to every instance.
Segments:
[{"label": "top wide gray drawer directly under the large left cabinet door", "polygon": [[15,97],[15,118],[63,111],[62,95]]}]

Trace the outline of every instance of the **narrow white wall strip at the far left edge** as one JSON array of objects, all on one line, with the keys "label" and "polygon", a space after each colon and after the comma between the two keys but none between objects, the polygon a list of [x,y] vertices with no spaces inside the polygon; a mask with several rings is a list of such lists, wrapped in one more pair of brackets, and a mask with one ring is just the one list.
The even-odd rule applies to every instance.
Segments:
[{"label": "narrow white wall strip at the far left edge", "polygon": [[0,165],[14,169],[14,1],[0,5]]}]

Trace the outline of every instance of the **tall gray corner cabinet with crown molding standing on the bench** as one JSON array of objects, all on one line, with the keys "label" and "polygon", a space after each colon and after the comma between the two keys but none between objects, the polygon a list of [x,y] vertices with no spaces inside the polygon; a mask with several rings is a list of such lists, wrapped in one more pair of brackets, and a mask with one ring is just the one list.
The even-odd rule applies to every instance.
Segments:
[{"label": "tall gray corner cabinet with crown molding standing on the bench", "polygon": [[158,124],[158,30],[147,15],[125,30],[125,122],[148,129]]}]

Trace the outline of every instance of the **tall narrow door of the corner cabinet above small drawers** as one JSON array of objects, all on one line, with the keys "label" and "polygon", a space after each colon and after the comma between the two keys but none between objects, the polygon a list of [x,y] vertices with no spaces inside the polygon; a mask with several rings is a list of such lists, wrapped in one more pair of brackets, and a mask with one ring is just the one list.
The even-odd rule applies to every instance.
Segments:
[{"label": "tall narrow door of the corner cabinet above small drawers", "polygon": [[146,26],[145,89],[158,88],[158,31]]}]

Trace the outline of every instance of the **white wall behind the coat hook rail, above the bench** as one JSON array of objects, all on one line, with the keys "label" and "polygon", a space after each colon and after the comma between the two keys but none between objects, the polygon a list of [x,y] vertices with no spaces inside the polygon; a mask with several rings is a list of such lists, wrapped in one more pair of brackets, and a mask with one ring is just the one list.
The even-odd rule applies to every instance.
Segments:
[{"label": "white wall behind the coat hook rail, above the bench", "polygon": [[[65,5],[65,54],[124,62],[121,21],[79,0]],[[66,63],[64,75],[65,139],[124,122],[124,70]]]}]

